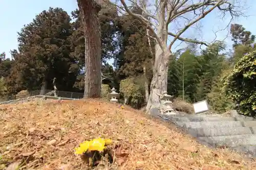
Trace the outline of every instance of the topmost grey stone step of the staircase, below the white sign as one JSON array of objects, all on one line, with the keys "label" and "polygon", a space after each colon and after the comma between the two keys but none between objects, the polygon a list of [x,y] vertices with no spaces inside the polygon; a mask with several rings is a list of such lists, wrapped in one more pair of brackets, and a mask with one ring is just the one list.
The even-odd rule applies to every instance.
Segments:
[{"label": "topmost grey stone step of the staircase, below the white sign", "polygon": [[236,121],[233,117],[199,117],[199,116],[181,116],[181,115],[164,115],[161,116],[164,120],[169,120],[172,122],[218,122],[218,121]]}]

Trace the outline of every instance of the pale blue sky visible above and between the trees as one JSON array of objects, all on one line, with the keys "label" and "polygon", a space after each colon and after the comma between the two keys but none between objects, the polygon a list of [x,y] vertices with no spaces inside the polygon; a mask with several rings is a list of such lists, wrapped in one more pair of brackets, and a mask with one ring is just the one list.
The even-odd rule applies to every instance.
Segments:
[{"label": "pale blue sky visible above and between the trees", "polygon": [[[76,0],[44,0],[44,1],[8,1],[0,0],[0,16],[1,16],[1,27],[0,27],[0,53],[5,52],[7,57],[10,57],[10,50],[17,48],[17,32],[23,28],[24,25],[30,23],[35,15],[39,14],[43,10],[48,10],[49,7],[60,7],[63,10],[71,14],[71,11],[77,7]],[[236,0],[231,0],[236,1]],[[232,23],[239,23],[243,25],[246,30],[251,31],[252,34],[256,35],[256,3],[255,0],[243,0],[245,3],[246,11],[243,11],[247,17],[240,17],[235,19]],[[184,33],[184,37],[199,38],[207,42],[211,42],[215,39],[217,30],[224,29],[228,22],[229,17],[224,20],[218,17],[217,13],[211,13],[200,21],[200,30],[189,29]],[[219,40],[224,40],[228,34],[228,29],[219,31],[217,37]],[[231,47],[231,39],[226,38],[226,43]],[[173,49],[181,48],[179,42],[176,42]]]}]

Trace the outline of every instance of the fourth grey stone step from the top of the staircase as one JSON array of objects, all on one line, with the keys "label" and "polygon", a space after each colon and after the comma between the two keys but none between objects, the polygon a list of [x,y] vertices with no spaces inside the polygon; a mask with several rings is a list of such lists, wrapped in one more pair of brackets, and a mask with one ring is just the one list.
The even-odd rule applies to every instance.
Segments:
[{"label": "fourth grey stone step from the top of the staircase", "polygon": [[201,142],[209,143],[212,146],[226,146],[236,148],[244,145],[256,145],[256,135],[232,135],[232,136],[212,136],[198,137]]}]

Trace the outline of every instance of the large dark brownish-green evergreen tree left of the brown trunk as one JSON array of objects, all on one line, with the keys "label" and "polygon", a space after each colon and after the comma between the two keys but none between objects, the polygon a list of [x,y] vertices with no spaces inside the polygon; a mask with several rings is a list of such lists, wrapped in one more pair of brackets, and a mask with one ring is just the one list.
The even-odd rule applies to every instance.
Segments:
[{"label": "large dark brownish-green evergreen tree left of the brown trunk", "polygon": [[70,57],[70,21],[66,11],[49,8],[24,26],[18,33],[18,54],[13,52],[15,64],[9,82],[14,79],[14,84],[28,90],[41,87],[44,93],[57,78],[59,90],[72,88],[77,70],[72,68],[75,59]]}]

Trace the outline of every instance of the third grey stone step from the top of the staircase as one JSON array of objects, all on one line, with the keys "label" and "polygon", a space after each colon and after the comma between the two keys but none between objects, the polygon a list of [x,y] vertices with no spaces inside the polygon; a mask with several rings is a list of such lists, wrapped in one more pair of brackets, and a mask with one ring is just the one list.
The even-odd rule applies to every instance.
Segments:
[{"label": "third grey stone step from the top of the staircase", "polygon": [[186,129],[187,132],[194,137],[209,137],[209,136],[230,136],[230,135],[248,135],[256,134],[256,127],[237,127],[237,128],[200,128]]}]

